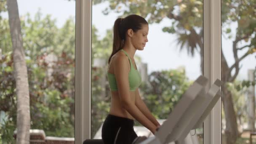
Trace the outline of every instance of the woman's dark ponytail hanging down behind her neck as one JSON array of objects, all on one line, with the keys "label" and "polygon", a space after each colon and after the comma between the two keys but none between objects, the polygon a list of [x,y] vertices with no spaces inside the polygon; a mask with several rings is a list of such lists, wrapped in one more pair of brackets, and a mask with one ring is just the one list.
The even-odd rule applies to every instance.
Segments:
[{"label": "woman's dark ponytail hanging down behind her neck", "polygon": [[113,50],[112,53],[109,57],[109,61],[108,64],[110,63],[110,60],[112,58],[112,56],[117,53],[117,51],[119,51],[120,49],[123,48],[123,40],[124,40],[124,34],[122,34],[122,27],[121,27],[121,22],[123,21],[122,18],[118,18],[117,20],[115,20],[115,24],[114,24],[114,39],[113,39]]}]

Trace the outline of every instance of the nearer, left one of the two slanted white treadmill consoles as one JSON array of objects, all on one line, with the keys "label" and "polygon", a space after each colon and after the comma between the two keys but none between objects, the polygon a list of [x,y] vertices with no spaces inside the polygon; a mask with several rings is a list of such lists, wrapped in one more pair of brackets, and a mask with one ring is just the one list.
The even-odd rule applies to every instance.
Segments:
[{"label": "nearer, left one of the two slanted white treadmill consoles", "polygon": [[189,113],[191,113],[191,110],[199,109],[205,100],[205,85],[207,82],[207,78],[198,77],[181,96],[167,120],[155,134],[161,144],[164,144],[168,139],[175,140],[175,137],[187,127],[188,121],[193,117]]}]

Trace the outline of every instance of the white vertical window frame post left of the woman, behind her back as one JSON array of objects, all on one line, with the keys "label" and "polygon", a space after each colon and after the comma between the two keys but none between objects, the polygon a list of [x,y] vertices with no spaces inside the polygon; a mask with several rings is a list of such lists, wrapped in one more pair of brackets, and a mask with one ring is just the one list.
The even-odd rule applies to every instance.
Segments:
[{"label": "white vertical window frame post left of the woman, behind her back", "polygon": [[75,144],[91,138],[91,0],[76,0]]}]

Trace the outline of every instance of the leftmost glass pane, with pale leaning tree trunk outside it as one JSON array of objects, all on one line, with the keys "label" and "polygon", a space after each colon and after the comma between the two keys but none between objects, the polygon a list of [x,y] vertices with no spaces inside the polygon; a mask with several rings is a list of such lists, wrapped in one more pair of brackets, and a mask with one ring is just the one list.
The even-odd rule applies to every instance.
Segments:
[{"label": "leftmost glass pane, with pale leaning tree trunk outside it", "polygon": [[[15,10],[15,5],[8,7],[10,11]],[[30,115],[30,122],[29,119],[24,121],[30,123],[31,132],[34,133],[32,136],[35,135],[31,139],[53,142],[61,137],[61,143],[74,141],[75,1],[18,0],[18,11],[19,16],[18,13],[16,16],[21,24],[10,29],[7,3],[1,0],[0,143],[14,143],[14,131],[24,126],[17,123],[24,120],[21,119],[23,115]],[[17,37],[10,35],[19,26],[21,31],[15,32],[17,37],[21,35],[22,41],[21,45],[18,42],[16,49],[24,50],[21,59],[13,56],[11,40],[16,41]],[[25,61],[27,71],[20,69],[21,65],[16,65],[22,60]],[[26,74],[27,79],[18,82],[15,74],[20,75],[20,78]],[[19,91],[22,93],[19,94]],[[30,113],[20,107],[26,102],[30,102]],[[21,118],[17,118],[17,115],[21,115]]]}]

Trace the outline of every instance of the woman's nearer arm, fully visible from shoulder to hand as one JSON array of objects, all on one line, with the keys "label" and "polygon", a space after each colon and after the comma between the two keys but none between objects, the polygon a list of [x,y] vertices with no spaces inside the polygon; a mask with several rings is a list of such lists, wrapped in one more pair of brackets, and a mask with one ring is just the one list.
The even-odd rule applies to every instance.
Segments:
[{"label": "woman's nearer arm, fully visible from shoulder to hand", "polygon": [[155,133],[157,129],[155,124],[152,123],[131,101],[128,80],[129,67],[130,63],[126,56],[119,55],[115,57],[114,74],[117,81],[120,102],[123,108],[127,110],[139,123],[148,128],[152,133]]}]

